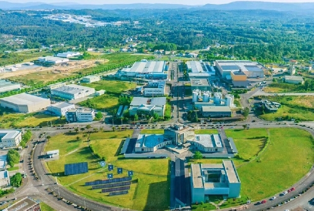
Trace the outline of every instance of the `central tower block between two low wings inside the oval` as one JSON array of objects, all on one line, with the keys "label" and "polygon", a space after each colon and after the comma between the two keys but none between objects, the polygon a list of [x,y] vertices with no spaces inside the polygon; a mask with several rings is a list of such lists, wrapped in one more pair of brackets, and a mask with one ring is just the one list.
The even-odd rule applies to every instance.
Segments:
[{"label": "central tower block between two low wings inside the oval", "polygon": [[164,137],[172,141],[173,145],[183,145],[194,138],[194,130],[188,125],[177,123],[164,129]]}]

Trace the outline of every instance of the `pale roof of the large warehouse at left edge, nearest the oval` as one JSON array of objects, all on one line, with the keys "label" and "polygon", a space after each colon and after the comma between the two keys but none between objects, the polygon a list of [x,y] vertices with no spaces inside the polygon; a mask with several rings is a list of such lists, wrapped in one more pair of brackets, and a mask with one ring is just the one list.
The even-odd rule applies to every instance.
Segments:
[{"label": "pale roof of the large warehouse at left edge, nearest the oval", "polygon": [[10,103],[18,105],[33,105],[34,103],[39,103],[44,100],[49,100],[47,98],[42,98],[36,95],[21,93],[9,97],[3,97],[0,100],[7,101]]}]

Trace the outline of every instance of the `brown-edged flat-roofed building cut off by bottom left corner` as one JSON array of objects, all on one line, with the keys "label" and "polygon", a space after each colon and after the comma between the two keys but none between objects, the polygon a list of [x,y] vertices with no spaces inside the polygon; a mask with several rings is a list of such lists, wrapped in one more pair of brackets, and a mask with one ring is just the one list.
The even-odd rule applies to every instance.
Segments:
[{"label": "brown-edged flat-roofed building cut off by bottom left corner", "polygon": [[41,208],[38,201],[30,197],[26,197],[5,208],[3,211],[41,211]]}]

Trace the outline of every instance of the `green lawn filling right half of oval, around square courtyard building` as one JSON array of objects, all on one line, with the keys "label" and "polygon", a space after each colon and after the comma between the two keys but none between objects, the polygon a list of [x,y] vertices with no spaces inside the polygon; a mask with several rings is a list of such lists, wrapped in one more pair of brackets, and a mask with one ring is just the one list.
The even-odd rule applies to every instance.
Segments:
[{"label": "green lawn filling right half of oval, around square courtyard building", "polygon": [[[240,156],[254,156],[261,147],[260,136],[269,136],[270,144],[258,160],[247,162],[232,159],[241,180],[241,198],[227,200],[221,208],[233,207],[270,197],[300,180],[312,167],[312,136],[297,128],[226,130],[233,137]],[[302,138],[300,138],[302,137]],[[248,143],[252,141],[253,143]],[[191,159],[189,163],[221,163],[222,159]],[[208,205],[205,203],[204,205]],[[200,207],[200,205],[198,206]]]}]

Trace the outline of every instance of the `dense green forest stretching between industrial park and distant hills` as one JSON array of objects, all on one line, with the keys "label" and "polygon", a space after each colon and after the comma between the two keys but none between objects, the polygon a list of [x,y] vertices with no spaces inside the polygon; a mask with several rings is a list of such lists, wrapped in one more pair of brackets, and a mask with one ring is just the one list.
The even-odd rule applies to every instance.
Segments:
[{"label": "dense green forest stretching between industrial park and distant hills", "polygon": [[[90,15],[98,21],[129,21],[130,24],[105,27],[49,20],[49,14]],[[134,21],[138,21],[135,24]],[[41,44],[66,43],[87,47],[120,47],[132,36],[145,43],[145,49],[193,50],[211,47],[208,59],[233,55],[264,63],[282,62],[284,58],[314,58],[314,19],[312,14],[268,10],[52,10],[0,13],[0,34],[25,38],[23,48]],[[150,36],[147,36],[150,34]],[[12,46],[0,43],[0,50]]]}]

